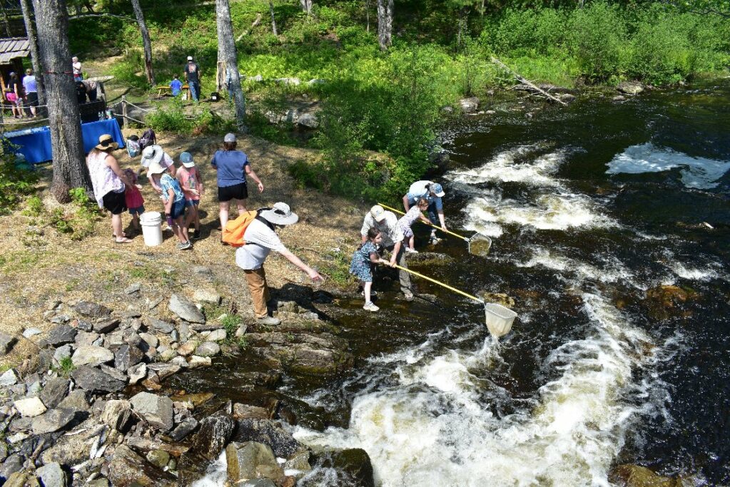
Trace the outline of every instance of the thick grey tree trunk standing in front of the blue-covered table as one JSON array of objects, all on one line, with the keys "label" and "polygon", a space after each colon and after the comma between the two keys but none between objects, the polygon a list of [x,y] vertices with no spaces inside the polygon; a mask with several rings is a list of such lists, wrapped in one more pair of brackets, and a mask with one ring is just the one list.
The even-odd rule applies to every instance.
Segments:
[{"label": "thick grey tree trunk standing in front of the blue-covered table", "polygon": [[91,192],[91,178],[84,161],[79,104],[69,65],[69,14],[66,0],[37,1],[35,7],[41,64],[47,72],[48,125],[53,150],[50,191],[59,203],[68,203],[71,200],[69,190],[74,187]]}]

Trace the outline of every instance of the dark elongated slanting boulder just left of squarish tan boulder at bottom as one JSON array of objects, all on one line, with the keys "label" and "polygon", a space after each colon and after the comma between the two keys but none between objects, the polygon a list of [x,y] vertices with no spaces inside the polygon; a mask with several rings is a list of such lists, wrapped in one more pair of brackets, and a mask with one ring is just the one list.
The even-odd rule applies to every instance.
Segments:
[{"label": "dark elongated slanting boulder just left of squarish tan boulder at bottom", "polygon": [[177,464],[180,485],[190,485],[205,475],[207,464],[218,458],[235,427],[234,419],[223,411],[200,421],[200,429],[193,436],[190,449],[180,456]]}]

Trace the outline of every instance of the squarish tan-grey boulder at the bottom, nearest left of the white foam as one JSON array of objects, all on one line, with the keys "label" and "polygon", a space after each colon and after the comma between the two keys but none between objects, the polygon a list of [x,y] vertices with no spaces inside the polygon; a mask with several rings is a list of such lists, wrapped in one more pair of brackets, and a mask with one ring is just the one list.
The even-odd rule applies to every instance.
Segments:
[{"label": "squarish tan-grey boulder at the bottom, nearest left of the white foam", "polygon": [[230,443],[226,447],[228,482],[238,485],[250,478],[283,477],[284,470],[277,464],[274,451],[269,445],[247,441]]}]

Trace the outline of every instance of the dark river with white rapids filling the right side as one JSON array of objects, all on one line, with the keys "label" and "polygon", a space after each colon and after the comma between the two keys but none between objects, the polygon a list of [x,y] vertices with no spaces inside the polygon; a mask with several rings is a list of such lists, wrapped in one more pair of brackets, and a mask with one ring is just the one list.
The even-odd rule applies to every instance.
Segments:
[{"label": "dark river with white rapids filling the right side", "polygon": [[[728,81],[495,103],[446,128],[447,222],[493,246],[447,239],[430,249],[447,265],[413,267],[512,297],[512,332],[491,338],[480,305],[424,281],[435,300],[377,284],[380,313],[353,297],[337,318],[355,368],[285,380],[295,436],[364,448],[383,486],[608,486],[621,463],[730,484]],[[215,388],[237,397],[226,367]]]}]

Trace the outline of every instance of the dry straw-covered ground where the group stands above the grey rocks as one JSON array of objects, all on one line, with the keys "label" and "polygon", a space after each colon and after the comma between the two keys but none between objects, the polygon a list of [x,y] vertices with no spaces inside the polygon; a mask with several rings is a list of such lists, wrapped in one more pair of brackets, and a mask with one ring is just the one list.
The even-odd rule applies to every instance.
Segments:
[{"label": "dry straw-covered ground where the group stands above the grey rocks", "polygon": [[[212,288],[237,303],[245,320],[253,319],[250,297],[242,271],[234,262],[234,249],[220,244],[218,202],[215,200],[215,171],[210,159],[222,145],[220,136],[197,138],[161,137],[161,145],[177,161],[181,152],[193,154],[204,177],[206,195],[201,200],[203,238],[192,251],[177,251],[177,239],[166,232],[158,247],[145,247],[142,236],[134,243],[117,245],[112,240],[109,214],[96,224],[91,237],[72,241],[49,225],[49,218],[28,217],[16,211],[0,217],[0,331],[20,334],[28,327],[46,330],[53,326],[43,313],[49,302],[64,303],[92,300],[112,309],[143,308],[153,300],[171,292],[192,295],[196,289]],[[303,190],[288,176],[286,165],[295,160],[311,160],[316,152],[271,144],[243,136],[239,149],[250,157],[253,169],[264,182],[264,193],[250,194],[249,209],[285,201],[299,214],[300,222],[280,230],[282,241],[310,265],[327,265],[331,249],[339,247],[349,254],[358,241],[358,230],[366,206],[349,200],[332,198],[312,190]],[[126,151],[115,152],[123,167],[138,168],[139,157],[130,160]],[[47,211],[58,205],[47,192],[50,171],[44,171],[39,196]],[[152,188],[145,184],[142,194],[147,211],[161,211],[162,203]],[[233,213],[233,212],[232,212]],[[125,227],[128,214],[123,215]],[[200,273],[199,266],[210,273]],[[273,289],[288,283],[304,283],[306,276],[287,260],[272,254],[266,271]],[[142,284],[141,297],[127,295],[125,289]],[[325,284],[325,287],[333,283]],[[307,285],[307,284],[304,284]],[[32,346],[23,343],[4,362],[17,362]]]}]

